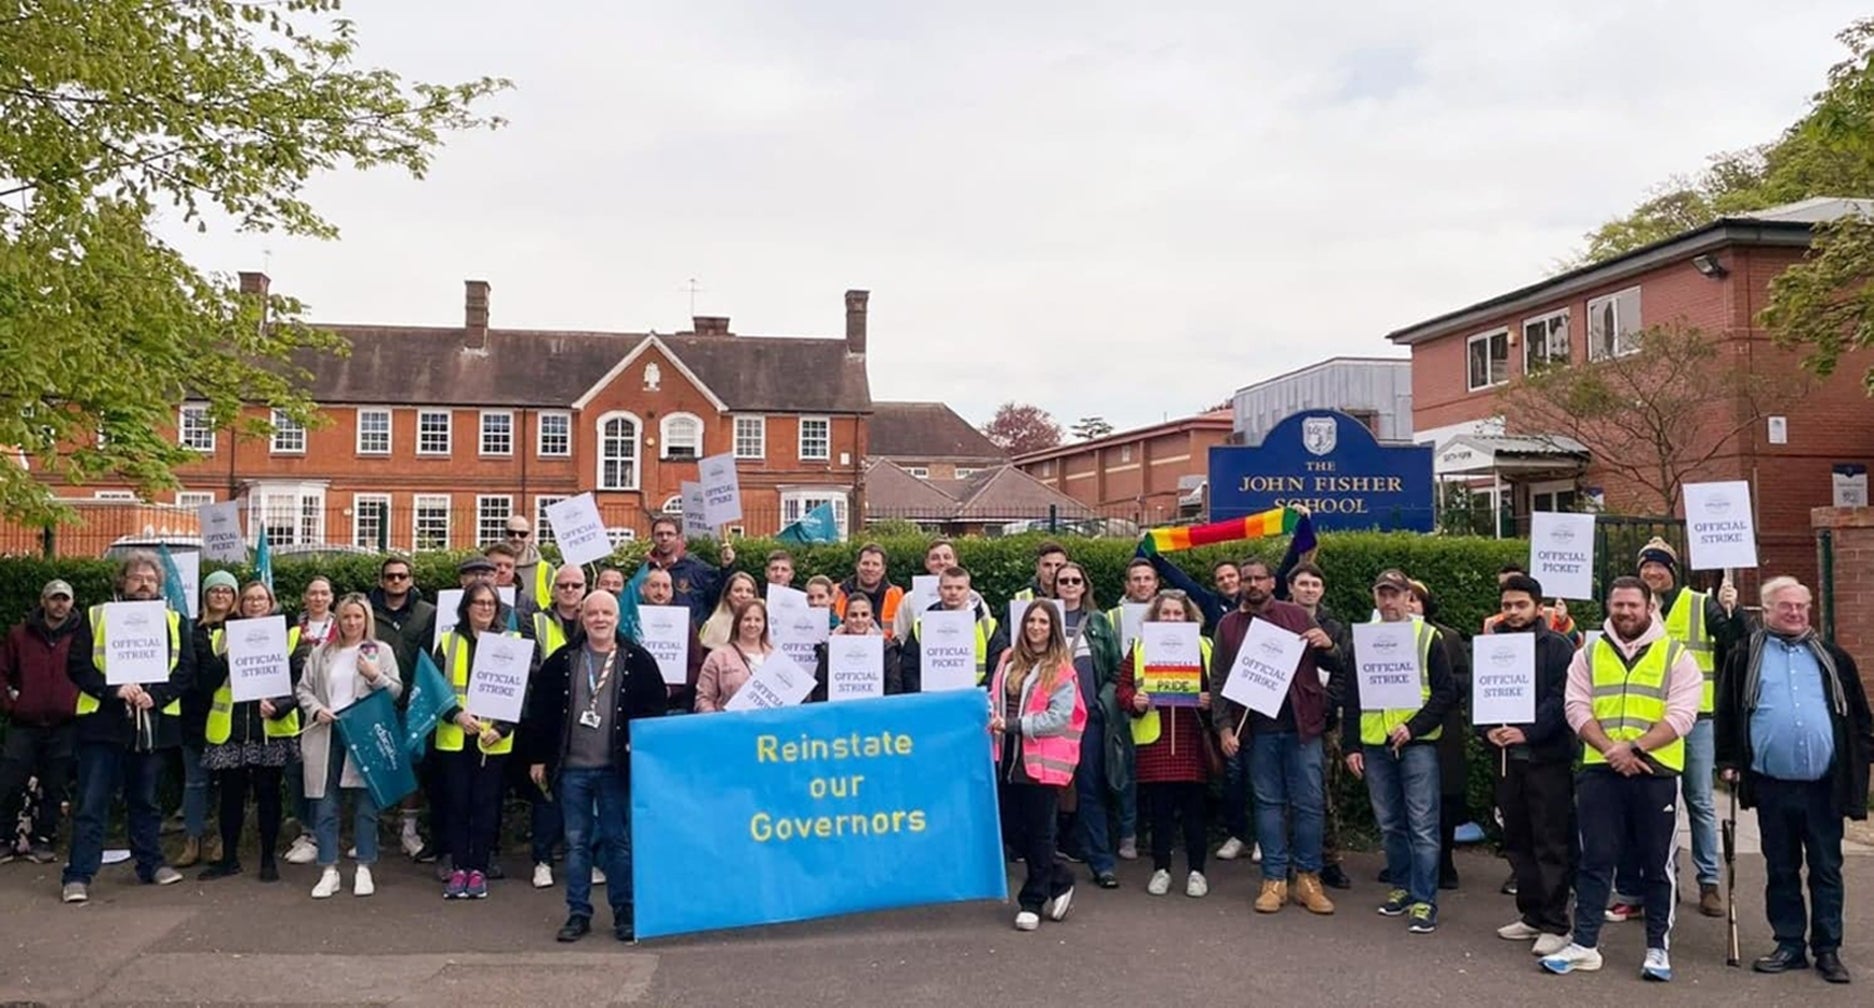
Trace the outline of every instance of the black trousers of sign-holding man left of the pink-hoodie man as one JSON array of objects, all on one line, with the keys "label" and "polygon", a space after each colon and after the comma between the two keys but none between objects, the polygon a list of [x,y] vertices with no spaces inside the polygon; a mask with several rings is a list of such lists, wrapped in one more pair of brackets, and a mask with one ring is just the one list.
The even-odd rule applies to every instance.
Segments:
[{"label": "black trousers of sign-holding man left of the pink-hoodie man", "polygon": [[1529,927],[1569,933],[1572,882],[1574,768],[1567,763],[1497,764],[1503,854],[1516,873],[1516,911]]}]

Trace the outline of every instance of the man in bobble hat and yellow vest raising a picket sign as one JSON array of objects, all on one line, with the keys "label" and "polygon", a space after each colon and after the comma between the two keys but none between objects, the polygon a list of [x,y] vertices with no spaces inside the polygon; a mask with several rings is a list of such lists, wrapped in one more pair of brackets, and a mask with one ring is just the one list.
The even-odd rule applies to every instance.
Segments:
[{"label": "man in bobble hat and yellow vest raising a picket sign", "polygon": [[[1685,774],[1679,787],[1685,796],[1685,817],[1692,832],[1692,869],[1698,873],[1698,912],[1724,916],[1724,897],[1718,894],[1718,806],[1711,794],[1717,772],[1717,740],[1711,734],[1711,714],[1717,697],[1717,667],[1724,654],[1743,641],[1750,628],[1737,609],[1737,588],[1726,581],[1717,598],[1679,585],[1679,553],[1666,540],[1651,538],[1640,547],[1640,581],[1653,592],[1653,603],[1664,622],[1666,637],[1685,645],[1703,676],[1698,699],[1698,723],[1685,736]],[[1630,858],[1621,858],[1614,879],[1614,905],[1608,920],[1638,916],[1643,901],[1640,881]]]}]

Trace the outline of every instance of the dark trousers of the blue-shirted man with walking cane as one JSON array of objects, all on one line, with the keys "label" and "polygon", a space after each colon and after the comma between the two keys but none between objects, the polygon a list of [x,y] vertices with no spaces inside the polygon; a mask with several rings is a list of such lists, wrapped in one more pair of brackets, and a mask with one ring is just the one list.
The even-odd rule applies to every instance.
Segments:
[{"label": "dark trousers of the blue-shirted man with walking cane", "polygon": [[[1763,839],[1763,911],[1778,948],[1842,946],[1842,817],[1831,809],[1829,778],[1780,781],[1750,774]],[[1803,862],[1808,862],[1808,907],[1803,905]]]}]

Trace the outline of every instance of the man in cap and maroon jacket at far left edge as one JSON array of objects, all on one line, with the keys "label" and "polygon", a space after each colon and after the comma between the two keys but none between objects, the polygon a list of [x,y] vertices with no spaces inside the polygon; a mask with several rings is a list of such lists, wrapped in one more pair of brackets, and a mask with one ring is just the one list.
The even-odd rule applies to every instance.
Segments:
[{"label": "man in cap and maroon jacket at far left edge", "polygon": [[[73,719],[79,689],[66,676],[71,652],[71,631],[79,620],[71,616],[71,585],[47,581],[39,590],[39,605],[13,628],[0,648],[0,714],[7,716],[6,753],[0,755],[0,823],[15,823],[15,802],[24,796],[26,781],[39,779],[39,808],[32,811],[28,858],[47,864],[58,854],[58,809],[71,783]],[[6,854],[13,852],[11,832]]]}]

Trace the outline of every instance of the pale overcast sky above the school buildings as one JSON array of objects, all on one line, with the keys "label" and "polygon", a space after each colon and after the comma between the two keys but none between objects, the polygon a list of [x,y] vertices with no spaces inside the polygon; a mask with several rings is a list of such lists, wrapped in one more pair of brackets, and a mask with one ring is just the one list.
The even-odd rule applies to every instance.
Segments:
[{"label": "pale overcast sky above the school buildings", "polygon": [[836,335],[860,287],[875,399],[1126,427],[1540,279],[1651,184],[1775,139],[1865,4],[345,13],[367,62],[512,77],[512,126],[424,182],[320,180],[339,242],[184,238],[202,268],[270,253],[326,322],[455,326],[478,277],[497,328],[626,332],[690,328],[695,277],[736,332]]}]

